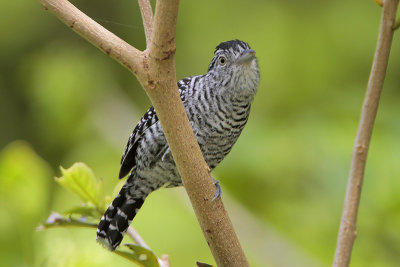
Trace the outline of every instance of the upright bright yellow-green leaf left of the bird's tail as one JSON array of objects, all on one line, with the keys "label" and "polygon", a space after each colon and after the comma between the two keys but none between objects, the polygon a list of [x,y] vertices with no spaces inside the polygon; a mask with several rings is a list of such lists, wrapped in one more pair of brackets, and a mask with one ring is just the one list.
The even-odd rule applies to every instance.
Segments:
[{"label": "upright bright yellow-green leaf left of the bird's tail", "polygon": [[62,176],[56,177],[56,182],[77,194],[85,203],[93,204],[99,213],[103,213],[103,183],[96,179],[93,171],[81,162],[75,163],[69,169],[60,169]]}]

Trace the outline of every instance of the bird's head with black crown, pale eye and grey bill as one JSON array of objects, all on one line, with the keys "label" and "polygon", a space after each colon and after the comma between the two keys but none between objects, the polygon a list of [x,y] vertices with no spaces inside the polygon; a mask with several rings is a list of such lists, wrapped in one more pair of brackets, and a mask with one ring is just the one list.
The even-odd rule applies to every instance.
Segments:
[{"label": "bird's head with black crown, pale eye and grey bill", "polygon": [[220,43],[208,67],[210,75],[223,89],[253,96],[260,81],[256,52],[240,40]]}]

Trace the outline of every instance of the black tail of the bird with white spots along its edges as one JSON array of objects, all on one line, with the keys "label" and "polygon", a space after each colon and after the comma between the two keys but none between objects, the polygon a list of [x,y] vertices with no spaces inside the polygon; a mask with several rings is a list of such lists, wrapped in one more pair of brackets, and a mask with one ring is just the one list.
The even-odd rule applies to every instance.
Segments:
[{"label": "black tail of the bird with white spots along its edges", "polygon": [[132,197],[124,185],[104,213],[97,227],[97,241],[109,250],[115,250],[128,226],[139,211],[147,195]]}]

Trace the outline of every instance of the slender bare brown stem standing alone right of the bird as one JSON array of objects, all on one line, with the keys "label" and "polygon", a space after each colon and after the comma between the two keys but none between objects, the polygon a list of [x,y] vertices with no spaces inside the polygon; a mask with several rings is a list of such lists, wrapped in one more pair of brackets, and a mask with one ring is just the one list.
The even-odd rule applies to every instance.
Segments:
[{"label": "slender bare brown stem standing alone right of the bird", "polygon": [[393,24],[396,17],[398,1],[399,0],[383,1],[378,44],[354,143],[346,198],[333,262],[333,266],[335,267],[345,267],[349,265],[351,251],[356,238],[357,213],[360,204],[365,163],[389,60],[394,31]]}]

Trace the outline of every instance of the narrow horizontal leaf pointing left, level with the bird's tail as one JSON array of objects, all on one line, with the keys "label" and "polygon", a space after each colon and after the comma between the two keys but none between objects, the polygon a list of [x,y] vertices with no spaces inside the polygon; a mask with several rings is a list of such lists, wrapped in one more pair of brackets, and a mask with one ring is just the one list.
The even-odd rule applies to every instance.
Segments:
[{"label": "narrow horizontal leaf pointing left, level with the bird's tail", "polygon": [[55,227],[89,227],[97,228],[97,223],[88,222],[86,219],[74,219],[63,217],[56,212],[52,212],[46,222],[39,225],[36,230],[46,230]]}]

